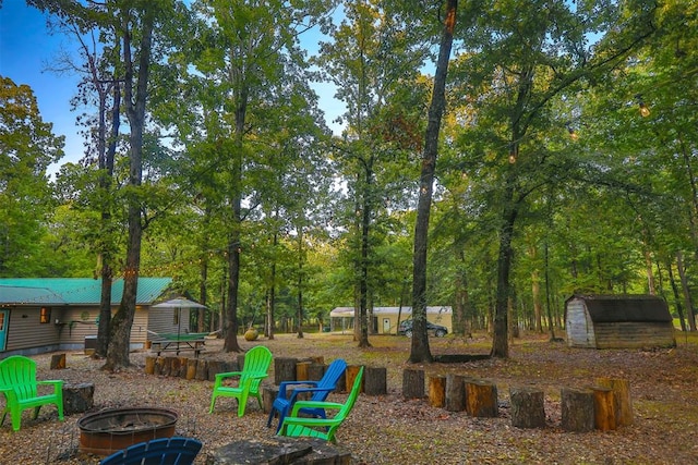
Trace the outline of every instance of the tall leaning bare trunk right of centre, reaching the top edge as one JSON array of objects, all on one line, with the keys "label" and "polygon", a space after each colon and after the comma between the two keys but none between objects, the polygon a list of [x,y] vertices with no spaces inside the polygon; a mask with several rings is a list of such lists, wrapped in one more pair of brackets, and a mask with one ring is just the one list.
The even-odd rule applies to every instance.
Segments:
[{"label": "tall leaning bare trunk right of centre, reaching the top edge", "polygon": [[446,0],[446,21],[438,47],[434,89],[429,107],[429,121],[422,156],[422,172],[419,181],[419,201],[417,205],[417,222],[414,224],[414,256],[412,259],[412,344],[411,363],[432,362],[426,335],[426,244],[429,236],[429,217],[431,213],[434,189],[434,172],[438,156],[438,135],[441,120],[446,108],[446,75],[450,48],[454,41],[458,0]]}]

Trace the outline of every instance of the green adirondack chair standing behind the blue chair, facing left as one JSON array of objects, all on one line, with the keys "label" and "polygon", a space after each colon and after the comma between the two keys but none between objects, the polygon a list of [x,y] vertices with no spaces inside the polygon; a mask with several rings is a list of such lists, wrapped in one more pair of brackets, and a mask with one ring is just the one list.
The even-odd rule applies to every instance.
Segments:
[{"label": "green adirondack chair standing behind the blue chair, facing left", "polygon": [[[245,354],[242,371],[220,372],[216,375],[208,413],[214,412],[216,399],[219,396],[236,397],[238,400],[239,417],[244,415],[244,407],[248,404],[248,397],[250,395],[257,399],[260,408],[262,408],[260,386],[262,384],[262,380],[269,376],[269,365],[272,365],[272,352],[264,345],[257,345]],[[240,378],[238,386],[224,384],[228,378]]]}]

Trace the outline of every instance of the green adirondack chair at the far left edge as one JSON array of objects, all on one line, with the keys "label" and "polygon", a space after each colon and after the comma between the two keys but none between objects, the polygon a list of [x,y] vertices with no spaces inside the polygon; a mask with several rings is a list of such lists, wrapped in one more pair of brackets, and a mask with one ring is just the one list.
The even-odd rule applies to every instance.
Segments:
[{"label": "green adirondack chair at the far left edge", "polygon": [[[39,394],[39,386],[52,386],[52,394]],[[10,413],[12,429],[20,430],[22,412],[34,408],[34,417],[39,415],[41,405],[56,404],[58,419],[63,420],[63,381],[62,380],[36,380],[36,362],[22,355],[12,355],[0,360],[0,392],[4,394],[5,406],[2,409],[0,426],[4,417]]]}]

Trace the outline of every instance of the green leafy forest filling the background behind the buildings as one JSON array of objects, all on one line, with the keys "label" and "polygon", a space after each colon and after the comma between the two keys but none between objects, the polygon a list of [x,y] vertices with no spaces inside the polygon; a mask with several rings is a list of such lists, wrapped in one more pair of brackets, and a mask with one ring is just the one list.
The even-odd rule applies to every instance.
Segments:
[{"label": "green leafy forest filling the background behind the buildings", "polygon": [[[57,68],[83,76],[85,154],[49,176],[61,137],[2,76],[0,276],[171,277],[233,306],[236,330],[272,333],[412,305],[428,70],[457,2],[28,3],[76,45]],[[574,293],[662,295],[696,329],[697,15],[687,0],[460,2],[426,268],[457,333],[492,330],[503,298],[512,333],[544,331]],[[316,81],[346,105],[341,134]]]}]

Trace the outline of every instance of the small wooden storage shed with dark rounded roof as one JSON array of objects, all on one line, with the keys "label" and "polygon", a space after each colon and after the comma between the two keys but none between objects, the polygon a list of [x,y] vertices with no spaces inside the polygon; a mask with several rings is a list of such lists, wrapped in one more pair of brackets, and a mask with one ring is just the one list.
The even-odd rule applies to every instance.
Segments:
[{"label": "small wooden storage shed with dark rounded roof", "polygon": [[654,295],[573,295],[565,302],[565,327],[570,347],[676,345],[669,306]]}]

